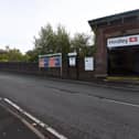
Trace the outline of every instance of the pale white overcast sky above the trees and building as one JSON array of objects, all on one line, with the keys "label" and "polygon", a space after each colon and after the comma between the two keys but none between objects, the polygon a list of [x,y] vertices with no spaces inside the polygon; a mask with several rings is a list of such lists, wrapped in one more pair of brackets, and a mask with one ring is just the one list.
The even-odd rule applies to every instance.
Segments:
[{"label": "pale white overcast sky above the trees and building", "polygon": [[138,0],[0,0],[0,49],[33,49],[33,36],[47,23],[90,33],[88,20],[138,7]]}]

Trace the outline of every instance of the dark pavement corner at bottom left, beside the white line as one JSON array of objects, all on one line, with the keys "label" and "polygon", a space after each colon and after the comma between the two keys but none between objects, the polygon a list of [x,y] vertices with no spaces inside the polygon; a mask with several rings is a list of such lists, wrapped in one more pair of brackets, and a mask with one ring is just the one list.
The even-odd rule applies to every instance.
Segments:
[{"label": "dark pavement corner at bottom left, beside the white line", "polygon": [[0,101],[0,139],[40,139]]}]

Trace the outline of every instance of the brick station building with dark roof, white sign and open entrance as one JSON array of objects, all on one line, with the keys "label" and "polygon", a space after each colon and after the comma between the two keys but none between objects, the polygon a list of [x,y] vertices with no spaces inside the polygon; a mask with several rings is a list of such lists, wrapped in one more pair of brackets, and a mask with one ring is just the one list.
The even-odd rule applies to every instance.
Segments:
[{"label": "brick station building with dark roof, white sign and open entrance", "polygon": [[95,76],[139,75],[139,10],[88,23],[96,34]]}]

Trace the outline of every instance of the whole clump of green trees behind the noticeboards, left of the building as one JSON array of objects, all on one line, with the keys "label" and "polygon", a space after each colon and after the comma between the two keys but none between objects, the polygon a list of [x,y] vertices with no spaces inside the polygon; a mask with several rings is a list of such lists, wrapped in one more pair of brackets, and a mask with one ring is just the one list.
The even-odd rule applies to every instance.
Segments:
[{"label": "whole clump of green trees behind the noticeboards, left of the building", "polygon": [[41,28],[39,36],[34,38],[34,49],[26,55],[32,62],[38,61],[39,55],[51,53],[62,53],[63,57],[67,57],[68,52],[76,51],[81,56],[87,56],[92,55],[95,50],[90,40],[90,35],[85,33],[76,33],[71,39],[63,25],[57,25],[56,30],[53,30],[51,24],[47,24]]}]

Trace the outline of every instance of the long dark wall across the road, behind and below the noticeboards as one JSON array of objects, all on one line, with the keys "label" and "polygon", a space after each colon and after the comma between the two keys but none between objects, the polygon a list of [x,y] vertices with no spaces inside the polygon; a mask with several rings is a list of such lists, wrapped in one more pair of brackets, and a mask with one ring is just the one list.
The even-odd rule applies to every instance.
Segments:
[{"label": "long dark wall across the road, behind and below the noticeboards", "polygon": [[70,66],[68,61],[63,62],[62,76],[61,68],[39,68],[39,63],[25,62],[0,62],[0,71],[14,72],[31,75],[42,75],[52,77],[62,77],[68,79],[94,79],[94,71],[85,71],[84,58],[77,60],[76,66]]}]

